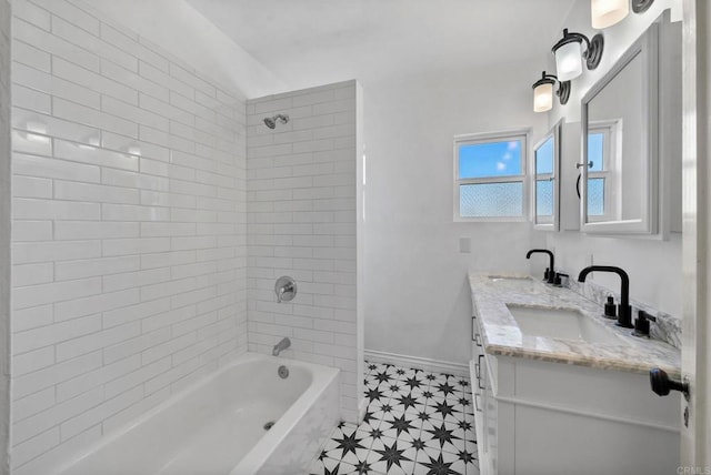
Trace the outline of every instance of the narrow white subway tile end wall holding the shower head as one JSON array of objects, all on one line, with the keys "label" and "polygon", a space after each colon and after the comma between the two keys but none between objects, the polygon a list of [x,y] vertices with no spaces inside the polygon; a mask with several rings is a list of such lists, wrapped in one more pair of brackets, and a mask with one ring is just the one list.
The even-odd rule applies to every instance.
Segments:
[{"label": "narrow white subway tile end wall holding the shower head", "polygon": [[[249,348],[341,370],[341,414],[358,420],[356,81],[247,102]],[[263,119],[288,114],[276,129]],[[277,303],[274,282],[297,281]]]}]

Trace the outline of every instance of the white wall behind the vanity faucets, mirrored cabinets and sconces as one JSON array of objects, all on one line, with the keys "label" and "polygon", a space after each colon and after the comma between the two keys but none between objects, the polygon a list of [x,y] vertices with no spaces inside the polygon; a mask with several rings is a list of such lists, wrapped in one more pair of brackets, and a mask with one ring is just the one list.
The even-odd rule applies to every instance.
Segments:
[{"label": "white wall behind the vanity faucets, mirrored cabinets and sconces", "polygon": [[[673,7],[672,19],[679,18],[680,1],[657,0],[643,14],[630,13],[617,26],[603,30],[605,39],[602,62],[593,71],[584,71],[582,77],[572,81],[572,94],[568,104],[554,108],[549,114],[549,123],[561,117],[567,121],[580,121],[580,100],[615,61],[627,51],[640,34],[654,21],[664,9]],[[590,2],[578,0],[571,10],[565,27],[571,31],[580,31],[591,36]],[[551,62],[552,65],[552,62]],[[679,121],[680,127],[680,121]],[[542,134],[543,131],[540,131]],[[681,149],[678,155],[663,154],[662,160],[680,163]],[[680,206],[680,201],[678,202]],[[675,216],[681,209],[673,211]],[[538,234],[538,232],[537,232]],[[590,264],[592,255],[594,264],[618,265],[630,275],[630,297],[671,315],[681,316],[681,235],[672,233],[669,241],[648,239],[595,238],[578,232],[545,233],[549,249],[555,250],[557,266],[571,271],[580,271]],[[594,282],[614,292],[620,291],[620,280],[615,275],[595,273]]]}]

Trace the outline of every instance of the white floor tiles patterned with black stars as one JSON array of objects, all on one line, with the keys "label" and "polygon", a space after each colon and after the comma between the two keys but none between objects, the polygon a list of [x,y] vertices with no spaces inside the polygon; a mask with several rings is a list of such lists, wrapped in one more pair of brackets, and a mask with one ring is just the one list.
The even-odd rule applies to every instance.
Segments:
[{"label": "white floor tiles patterned with black stars", "polygon": [[368,410],[341,423],[311,475],[479,475],[468,378],[365,362]]}]

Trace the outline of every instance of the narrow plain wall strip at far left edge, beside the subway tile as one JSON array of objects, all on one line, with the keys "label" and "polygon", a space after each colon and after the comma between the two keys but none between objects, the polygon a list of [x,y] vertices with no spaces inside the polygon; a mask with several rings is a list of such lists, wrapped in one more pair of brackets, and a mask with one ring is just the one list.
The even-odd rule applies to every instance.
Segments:
[{"label": "narrow plain wall strip at far left edge, beside the subway tile", "polygon": [[0,474],[10,442],[10,3],[0,1]]}]

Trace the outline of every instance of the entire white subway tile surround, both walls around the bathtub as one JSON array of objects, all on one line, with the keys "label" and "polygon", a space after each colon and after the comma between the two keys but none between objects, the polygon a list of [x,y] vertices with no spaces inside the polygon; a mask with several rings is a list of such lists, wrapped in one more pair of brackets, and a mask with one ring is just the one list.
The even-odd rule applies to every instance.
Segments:
[{"label": "entire white subway tile surround, both walls around the bathtub", "polygon": [[[12,8],[13,474],[51,473],[248,340],[340,367],[356,421],[357,83],[248,103],[80,0]],[[281,274],[299,293],[278,305]]]}]

